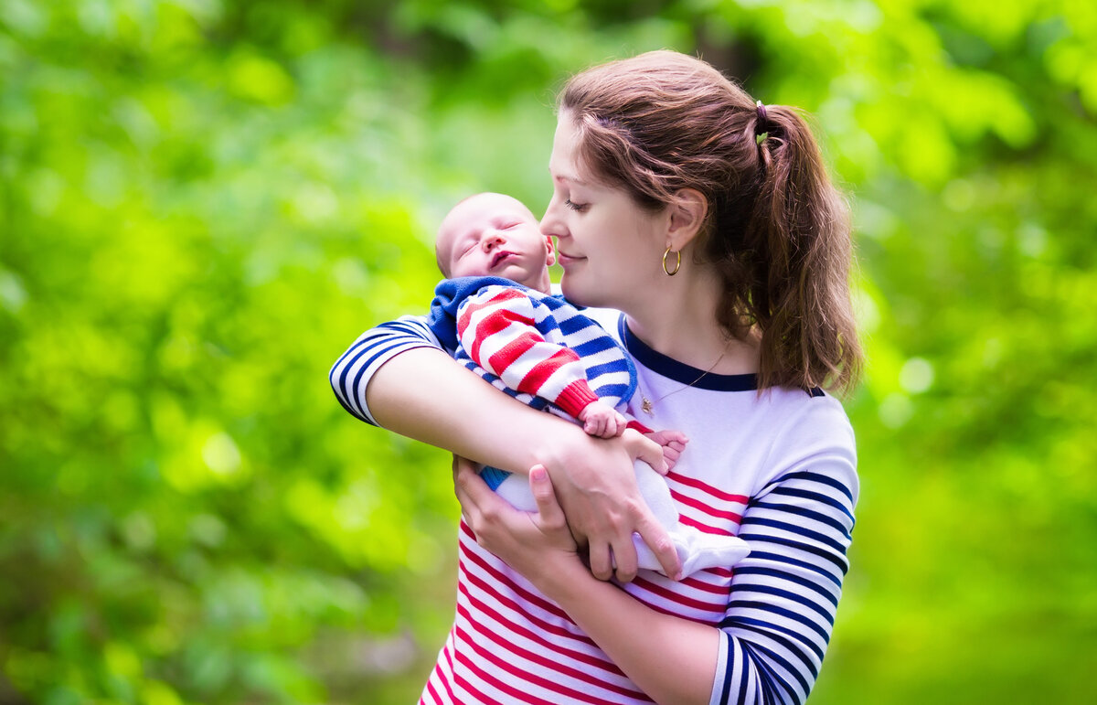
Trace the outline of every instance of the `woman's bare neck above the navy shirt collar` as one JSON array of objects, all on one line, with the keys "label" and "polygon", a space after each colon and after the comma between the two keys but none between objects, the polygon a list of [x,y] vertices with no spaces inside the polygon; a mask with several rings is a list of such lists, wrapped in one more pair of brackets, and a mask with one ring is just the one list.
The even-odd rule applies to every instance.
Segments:
[{"label": "woman's bare neck above the navy shirt collar", "polygon": [[652,287],[643,301],[625,312],[629,328],[652,349],[683,365],[712,368],[716,374],[757,372],[756,337],[730,338],[716,322],[719,276],[706,268],[690,273]]}]

